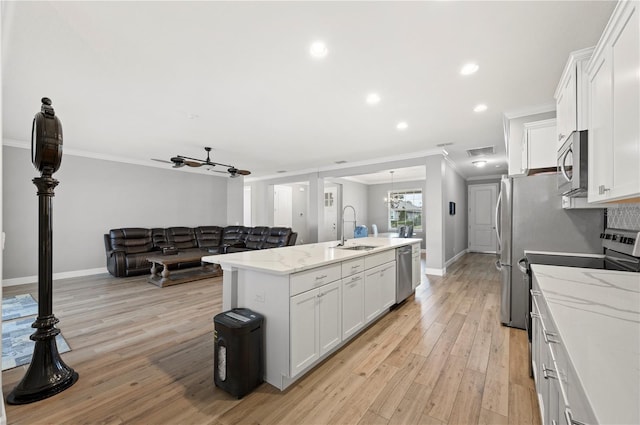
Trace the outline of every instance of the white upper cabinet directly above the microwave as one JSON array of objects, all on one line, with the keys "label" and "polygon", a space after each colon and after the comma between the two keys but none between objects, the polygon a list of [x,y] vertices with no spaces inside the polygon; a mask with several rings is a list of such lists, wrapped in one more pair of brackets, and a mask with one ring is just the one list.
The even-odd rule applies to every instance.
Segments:
[{"label": "white upper cabinet directly above the microwave", "polygon": [[593,47],[571,52],[555,92],[556,149],[574,131],[588,129],[589,86],[586,67]]}]

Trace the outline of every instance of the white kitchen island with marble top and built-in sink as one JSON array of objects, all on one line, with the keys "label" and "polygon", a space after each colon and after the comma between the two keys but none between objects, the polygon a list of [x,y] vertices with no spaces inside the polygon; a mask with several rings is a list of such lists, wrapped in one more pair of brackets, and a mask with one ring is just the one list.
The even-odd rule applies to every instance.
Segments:
[{"label": "white kitchen island with marble top and built-in sink", "polygon": [[223,310],[265,317],[265,381],[284,390],[395,304],[396,248],[412,246],[415,289],[420,242],[358,238],[342,247],[331,241],[202,261],[222,267]]}]

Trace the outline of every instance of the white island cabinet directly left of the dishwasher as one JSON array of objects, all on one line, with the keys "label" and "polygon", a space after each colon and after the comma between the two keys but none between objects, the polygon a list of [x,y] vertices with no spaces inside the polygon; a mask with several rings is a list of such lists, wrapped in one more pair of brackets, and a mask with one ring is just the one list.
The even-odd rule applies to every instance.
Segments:
[{"label": "white island cabinet directly left of the dishwasher", "polygon": [[365,271],[364,318],[369,323],[396,302],[395,261]]}]

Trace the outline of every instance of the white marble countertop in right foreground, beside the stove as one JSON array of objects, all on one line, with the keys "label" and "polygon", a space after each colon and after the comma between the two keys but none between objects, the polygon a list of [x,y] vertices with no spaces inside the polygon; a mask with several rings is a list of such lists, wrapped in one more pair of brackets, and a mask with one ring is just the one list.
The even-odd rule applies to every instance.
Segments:
[{"label": "white marble countertop in right foreground, beside the stove", "polygon": [[640,274],[531,268],[598,422],[640,423]]}]

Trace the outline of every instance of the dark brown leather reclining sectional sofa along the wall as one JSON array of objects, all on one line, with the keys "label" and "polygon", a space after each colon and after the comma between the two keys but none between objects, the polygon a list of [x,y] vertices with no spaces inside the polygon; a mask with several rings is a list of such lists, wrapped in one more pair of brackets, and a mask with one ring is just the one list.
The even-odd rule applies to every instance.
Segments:
[{"label": "dark brown leather reclining sectional sofa along the wall", "polygon": [[[200,226],[146,229],[111,229],[104,235],[107,269],[116,277],[149,273],[152,254],[201,252],[226,254],[255,249],[295,245],[298,234],[288,227]],[[178,264],[178,269],[199,266],[200,262]]]}]

